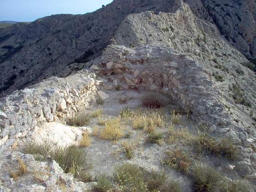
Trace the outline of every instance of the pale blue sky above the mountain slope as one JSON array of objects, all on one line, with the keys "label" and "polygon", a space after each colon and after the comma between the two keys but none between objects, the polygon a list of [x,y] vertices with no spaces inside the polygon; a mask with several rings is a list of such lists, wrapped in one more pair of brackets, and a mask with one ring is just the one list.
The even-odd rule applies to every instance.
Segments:
[{"label": "pale blue sky above the mountain slope", "polygon": [[0,21],[34,21],[45,16],[93,12],[112,0],[0,0]]}]

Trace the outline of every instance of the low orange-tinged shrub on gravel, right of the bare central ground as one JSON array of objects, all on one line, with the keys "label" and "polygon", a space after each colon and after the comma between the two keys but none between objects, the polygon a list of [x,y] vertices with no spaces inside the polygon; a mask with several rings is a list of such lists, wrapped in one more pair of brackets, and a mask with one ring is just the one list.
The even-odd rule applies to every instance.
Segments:
[{"label": "low orange-tinged shrub on gravel, right of the bare central ground", "polygon": [[166,155],[167,157],[164,159],[164,164],[170,165],[181,172],[188,171],[191,161],[189,157],[180,149],[168,151]]}]

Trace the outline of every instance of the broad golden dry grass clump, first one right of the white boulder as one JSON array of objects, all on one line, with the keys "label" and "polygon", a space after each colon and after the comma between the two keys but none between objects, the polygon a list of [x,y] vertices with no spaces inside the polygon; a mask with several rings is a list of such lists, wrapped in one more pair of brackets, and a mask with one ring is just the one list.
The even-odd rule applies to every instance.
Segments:
[{"label": "broad golden dry grass clump, first one right of the white boulder", "polygon": [[105,128],[100,132],[100,138],[108,140],[118,140],[123,137],[123,135],[120,117],[106,121]]}]

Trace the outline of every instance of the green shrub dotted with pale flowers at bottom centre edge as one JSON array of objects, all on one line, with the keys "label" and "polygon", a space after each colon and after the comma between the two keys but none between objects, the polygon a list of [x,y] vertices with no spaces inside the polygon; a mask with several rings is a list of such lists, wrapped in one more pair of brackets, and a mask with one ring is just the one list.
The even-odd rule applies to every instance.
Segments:
[{"label": "green shrub dotted with pale flowers at bottom centre edge", "polygon": [[132,164],[123,164],[116,167],[114,174],[118,187],[125,192],[147,191],[147,184],[144,183],[143,172]]}]

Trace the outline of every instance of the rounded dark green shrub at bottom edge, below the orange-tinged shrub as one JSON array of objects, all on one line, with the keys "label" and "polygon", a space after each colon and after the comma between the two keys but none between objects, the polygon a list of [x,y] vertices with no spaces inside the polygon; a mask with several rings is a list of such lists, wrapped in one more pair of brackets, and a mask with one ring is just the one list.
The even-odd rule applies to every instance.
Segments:
[{"label": "rounded dark green shrub at bottom edge, below the orange-tinged shrub", "polygon": [[222,179],[220,173],[208,166],[195,166],[192,177],[197,192],[215,191]]}]

